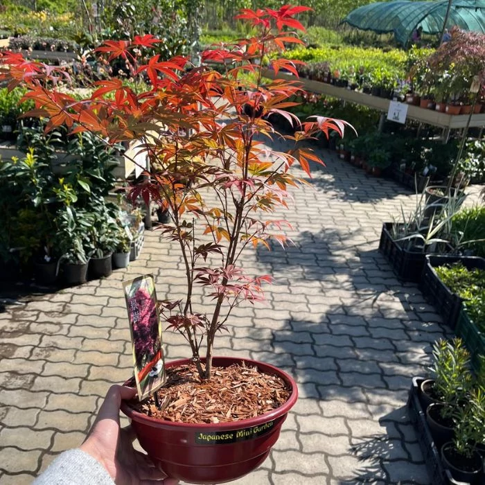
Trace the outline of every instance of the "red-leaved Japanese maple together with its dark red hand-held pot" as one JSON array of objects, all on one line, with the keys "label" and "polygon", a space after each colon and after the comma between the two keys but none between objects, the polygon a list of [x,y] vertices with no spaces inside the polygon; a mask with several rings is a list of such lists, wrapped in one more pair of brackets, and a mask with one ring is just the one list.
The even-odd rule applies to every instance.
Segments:
[{"label": "red-leaved Japanese maple together with its dark red hand-held pot", "polygon": [[[163,197],[170,206],[171,221],[161,232],[180,249],[186,294],[183,301],[160,302],[160,312],[168,327],[184,336],[190,355],[167,364],[168,382],[157,391],[157,400],[123,403],[122,410],[152,460],[170,477],[188,482],[226,482],[261,464],[297,400],[297,386],[287,373],[244,358],[215,357],[214,344],[230,323],[232,310],[243,301],[262,299],[263,284],[270,281],[269,276],[245,274],[238,264],[240,255],[250,247],[268,247],[272,238],[285,243],[285,236],[273,232],[284,222],[268,215],[287,205],[288,187],[300,182],[292,166],[299,163],[309,175],[310,163],[320,162],[299,141],[330,130],[344,134],[344,121],[312,116],[294,135],[285,135],[294,143],[288,152],[273,152],[274,158],[268,158],[270,152],[261,150],[259,136],[274,132],[267,115],[278,112],[294,120],[284,110],[294,105],[288,99],[300,88],[294,80],[263,85],[263,63],[252,61],[263,59],[269,42],[282,49],[301,43],[285,27],[303,28],[294,16],[306,10],[243,10],[239,18],[251,21],[260,35],[229,50],[202,53],[203,62],[222,60],[224,73],[207,66],[184,71],[187,60],[180,57],[161,62],[155,56],[137,66],[143,56],[134,52],[150,51],[159,42],[152,35],[107,42],[98,48],[100,55],[122,58],[149,83],[134,90],[121,80],[100,81],[85,100],[43,89],[43,82],[51,87],[57,68],[19,62],[17,55],[6,54],[0,60],[8,64],[3,77],[21,76],[37,114],[50,118],[52,125],[81,127],[107,143],[139,139],[150,159],[161,165],[146,172],[145,182],[134,186],[131,195],[145,202]],[[297,76],[289,60],[274,59],[270,64],[276,73],[285,68]],[[39,76],[23,76],[25,69],[35,69]],[[248,69],[250,80],[240,76]],[[62,119],[54,116],[53,103]],[[204,290],[203,308],[197,306],[197,288]],[[177,387],[184,383],[177,376],[189,378],[190,389]],[[218,386],[226,391],[217,391],[213,396],[220,397],[212,401],[209,390]],[[238,388],[244,391],[230,390]],[[182,401],[170,398],[174,391],[182,393]],[[183,402],[187,406],[181,407]]]}]

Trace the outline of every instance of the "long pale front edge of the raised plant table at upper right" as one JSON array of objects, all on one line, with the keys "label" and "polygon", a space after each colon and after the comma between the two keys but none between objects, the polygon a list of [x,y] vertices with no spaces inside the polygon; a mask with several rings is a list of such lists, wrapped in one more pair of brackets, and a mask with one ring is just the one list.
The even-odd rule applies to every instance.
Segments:
[{"label": "long pale front edge of the raised plant table at upper right", "polygon": [[[378,96],[371,96],[371,94],[360,93],[359,91],[352,91],[344,87],[337,87],[326,82],[313,81],[306,78],[296,78],[292,74],[279,72],[275,76],[271,69],[263,70],[263,76],[270,79],[286,79],[292,81],[299,81],[306,91],[314,93],[326,94],[334,98],[340,98],[349,103],[356,103],[358,105],[368,106],[373,109],[378,109],[386,112],[389,109],[389,99],[379,98]],[[427,125],[433,125],[447,130],[457,130],[464,128],[468,120],[468,114],[450,115],[434,111],[433,109],[425,109],[414,105],[408,105],[407,118]],[[485,114],[474,114],[470,121],[470,127],[484,127]]]}]

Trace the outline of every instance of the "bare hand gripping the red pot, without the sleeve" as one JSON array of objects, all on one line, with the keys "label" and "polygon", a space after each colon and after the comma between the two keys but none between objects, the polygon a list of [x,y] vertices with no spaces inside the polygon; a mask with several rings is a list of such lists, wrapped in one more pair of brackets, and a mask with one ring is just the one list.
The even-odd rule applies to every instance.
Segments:
[{"label": "bare hand gripping the red pot, without the sleeve", "polygon": [[132,387],[110,387],[80,448],[103,465],[116,485],[175,485],[177,480],[166,478],[147,455],[134,450],[132,428],[120,428],[121,400],[135,394],[136,389]]}]

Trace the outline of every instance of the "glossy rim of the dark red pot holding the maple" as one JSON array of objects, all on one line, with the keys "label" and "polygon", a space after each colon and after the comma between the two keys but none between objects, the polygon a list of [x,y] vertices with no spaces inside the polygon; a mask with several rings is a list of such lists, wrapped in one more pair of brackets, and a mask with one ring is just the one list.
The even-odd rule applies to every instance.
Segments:
[{"label": "glossy rim of the dark red pot holding the maple", "polygon": [[[214,362],[217,362],[218,360],[222,360],[222,359],[232,360],[233,363],[247,362],[249,364],[256,365],[256,367],[258,367],[263,371],[270,371],[272,373],[275,373],[276,375],[281,377],[288,385],[290,385],[291,387],[290,397],[285,403],[283,403],[283,405],[281,405],[280,407],[277,407],[276,409],[273,409],[270,412],[261,414],[260,416],[256,416],[254,418],[240,419],[239,421],[229,421],[227,423],[178,423],[174,421],[163,421],[161,419],[152,418],[150,416],[147,416],[146,414],[135,411],[134,409],[132,409],[132,407],[127,405],[127,402],[125,400],[121,401],[121,411],[124,414],[126,414],[128,418],[144,423],[145,425],[151,425],[153,427],[170,426],[170,427],[182,428],[182,429],[195,428],[198,430],[203,429],[203,430],[224,431],[224,430],[238,430],[243,427],[253,427],[253,426],[267,423],[268,421],[272,421],[276,418],[279,418],[280,416],[283,416],[284,414],[287,414],[288,411],[290,411],[290,409],[297,402],[297,399],[298,399],[297,383],[290,376],[290,374],[286,373],[285,371],[282,371],[281,369],[273,366],[272,364],[267,364],[266,362],[260,362],[258,360],[247,359],[243,357],[230,357],[230,356],[224,356],[224,355],[218,355],[213,357],[213,364]],[[201,358],[201,360],[202,362],[204,362],[205,358]],[[168,362],[168,367],[177,367],[177,365],[188,364],[189,362],[191,362],[190,358],[173,360],[171,362]],[[166,367],[167,367],[167,364],[166,364]],[[124,385],[126,385],[127,382],[129,381],[128,380],[125,381]]]}]

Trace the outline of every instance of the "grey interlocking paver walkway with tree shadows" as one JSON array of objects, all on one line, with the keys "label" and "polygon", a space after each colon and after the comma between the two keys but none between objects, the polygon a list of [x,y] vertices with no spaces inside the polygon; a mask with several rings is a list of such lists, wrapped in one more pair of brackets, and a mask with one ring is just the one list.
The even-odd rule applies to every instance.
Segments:
[{"label": "grey interlocking paver walkway with tree shadows", "polygon": [[[294,247],[245,258],[250,273],[274,276],[267,301],[236,309],[229,334],[216,341],[219,355],[288,370],[301,396],[270,458],[234,483],[428,484],[405,404],[410,378],[425,373],[430,345],[446,326],[377,251],[382,222],[398,216],[402,202],[412,207],[414,196],[335,154],[324,159],[327,168],[295,195],[287,215]],[[155,231],[127,271],[7,301],[0,312],[1,485],[29,484],[58,452],[81,443],[101,396],[132,372],[121,281],[152,272],[159,298],[176,297],[177,264],[177,252]],[[169,359],[188,356],[177,335],[166,332],[164,341]]]}]

